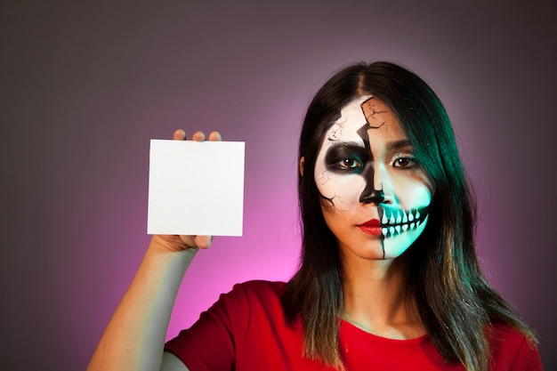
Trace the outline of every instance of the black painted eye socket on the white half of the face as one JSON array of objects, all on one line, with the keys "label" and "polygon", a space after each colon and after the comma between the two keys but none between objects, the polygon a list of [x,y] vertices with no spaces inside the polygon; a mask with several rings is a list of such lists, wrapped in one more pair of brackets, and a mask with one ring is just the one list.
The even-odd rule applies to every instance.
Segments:
[{"label": "black painted eye socket on the white half of the face", "polygon": [[325,155],[327,170],[336,173],[361,173],[370,160],[367,149],[352,144],[336,144]]}]

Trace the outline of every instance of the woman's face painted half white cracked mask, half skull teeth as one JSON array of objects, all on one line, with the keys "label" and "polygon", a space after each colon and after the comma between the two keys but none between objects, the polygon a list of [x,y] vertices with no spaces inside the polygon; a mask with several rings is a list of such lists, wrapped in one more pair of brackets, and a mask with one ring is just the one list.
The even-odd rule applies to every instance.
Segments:
[{"label": "woman's face painted half white cracked mask, half skull teeth", "polygon": [[424,231],[432,186],[383,101],[367,95],[344,106],[325,134],[314,176],[343,254],[396,258]]}]

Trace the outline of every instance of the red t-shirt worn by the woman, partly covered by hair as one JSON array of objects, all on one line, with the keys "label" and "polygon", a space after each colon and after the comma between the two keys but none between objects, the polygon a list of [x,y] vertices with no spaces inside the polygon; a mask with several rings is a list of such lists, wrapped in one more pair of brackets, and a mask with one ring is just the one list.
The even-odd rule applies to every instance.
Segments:
[{"label": "red t-shirt worn by the woman, partly covered by hair", "polygon": [[[191,371],[332,370],[303,358],[301,322],[287,326],[280,295],[284,282],[235,285],[190,329],[165,345]],[[494,326],[491,371],[542,371],[537,347],[511,327]],[[348,371],[464,371],[447,365],[427,335],[392,340],[342,321],[339,343]]]}]

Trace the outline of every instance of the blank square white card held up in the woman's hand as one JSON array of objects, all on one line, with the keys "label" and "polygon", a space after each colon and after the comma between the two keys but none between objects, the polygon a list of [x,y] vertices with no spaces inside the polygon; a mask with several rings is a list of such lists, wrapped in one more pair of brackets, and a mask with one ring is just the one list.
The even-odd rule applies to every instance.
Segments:
[{"label": "blank square white card held up in the woman's hand", "polygon": [[147,233],[241,236],[243,141],[150,141]]}]

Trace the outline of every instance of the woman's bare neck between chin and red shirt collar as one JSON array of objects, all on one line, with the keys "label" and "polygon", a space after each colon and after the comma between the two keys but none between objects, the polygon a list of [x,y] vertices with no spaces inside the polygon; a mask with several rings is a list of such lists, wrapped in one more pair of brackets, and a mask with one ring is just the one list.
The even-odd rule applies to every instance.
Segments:
[{"label": "woman's bare neck between chin and red shirt collar", "polygon": [[343,258],[343,318],[374,334],[392,339],[424,335],[416,305],[407,292],[407,262]]}]

